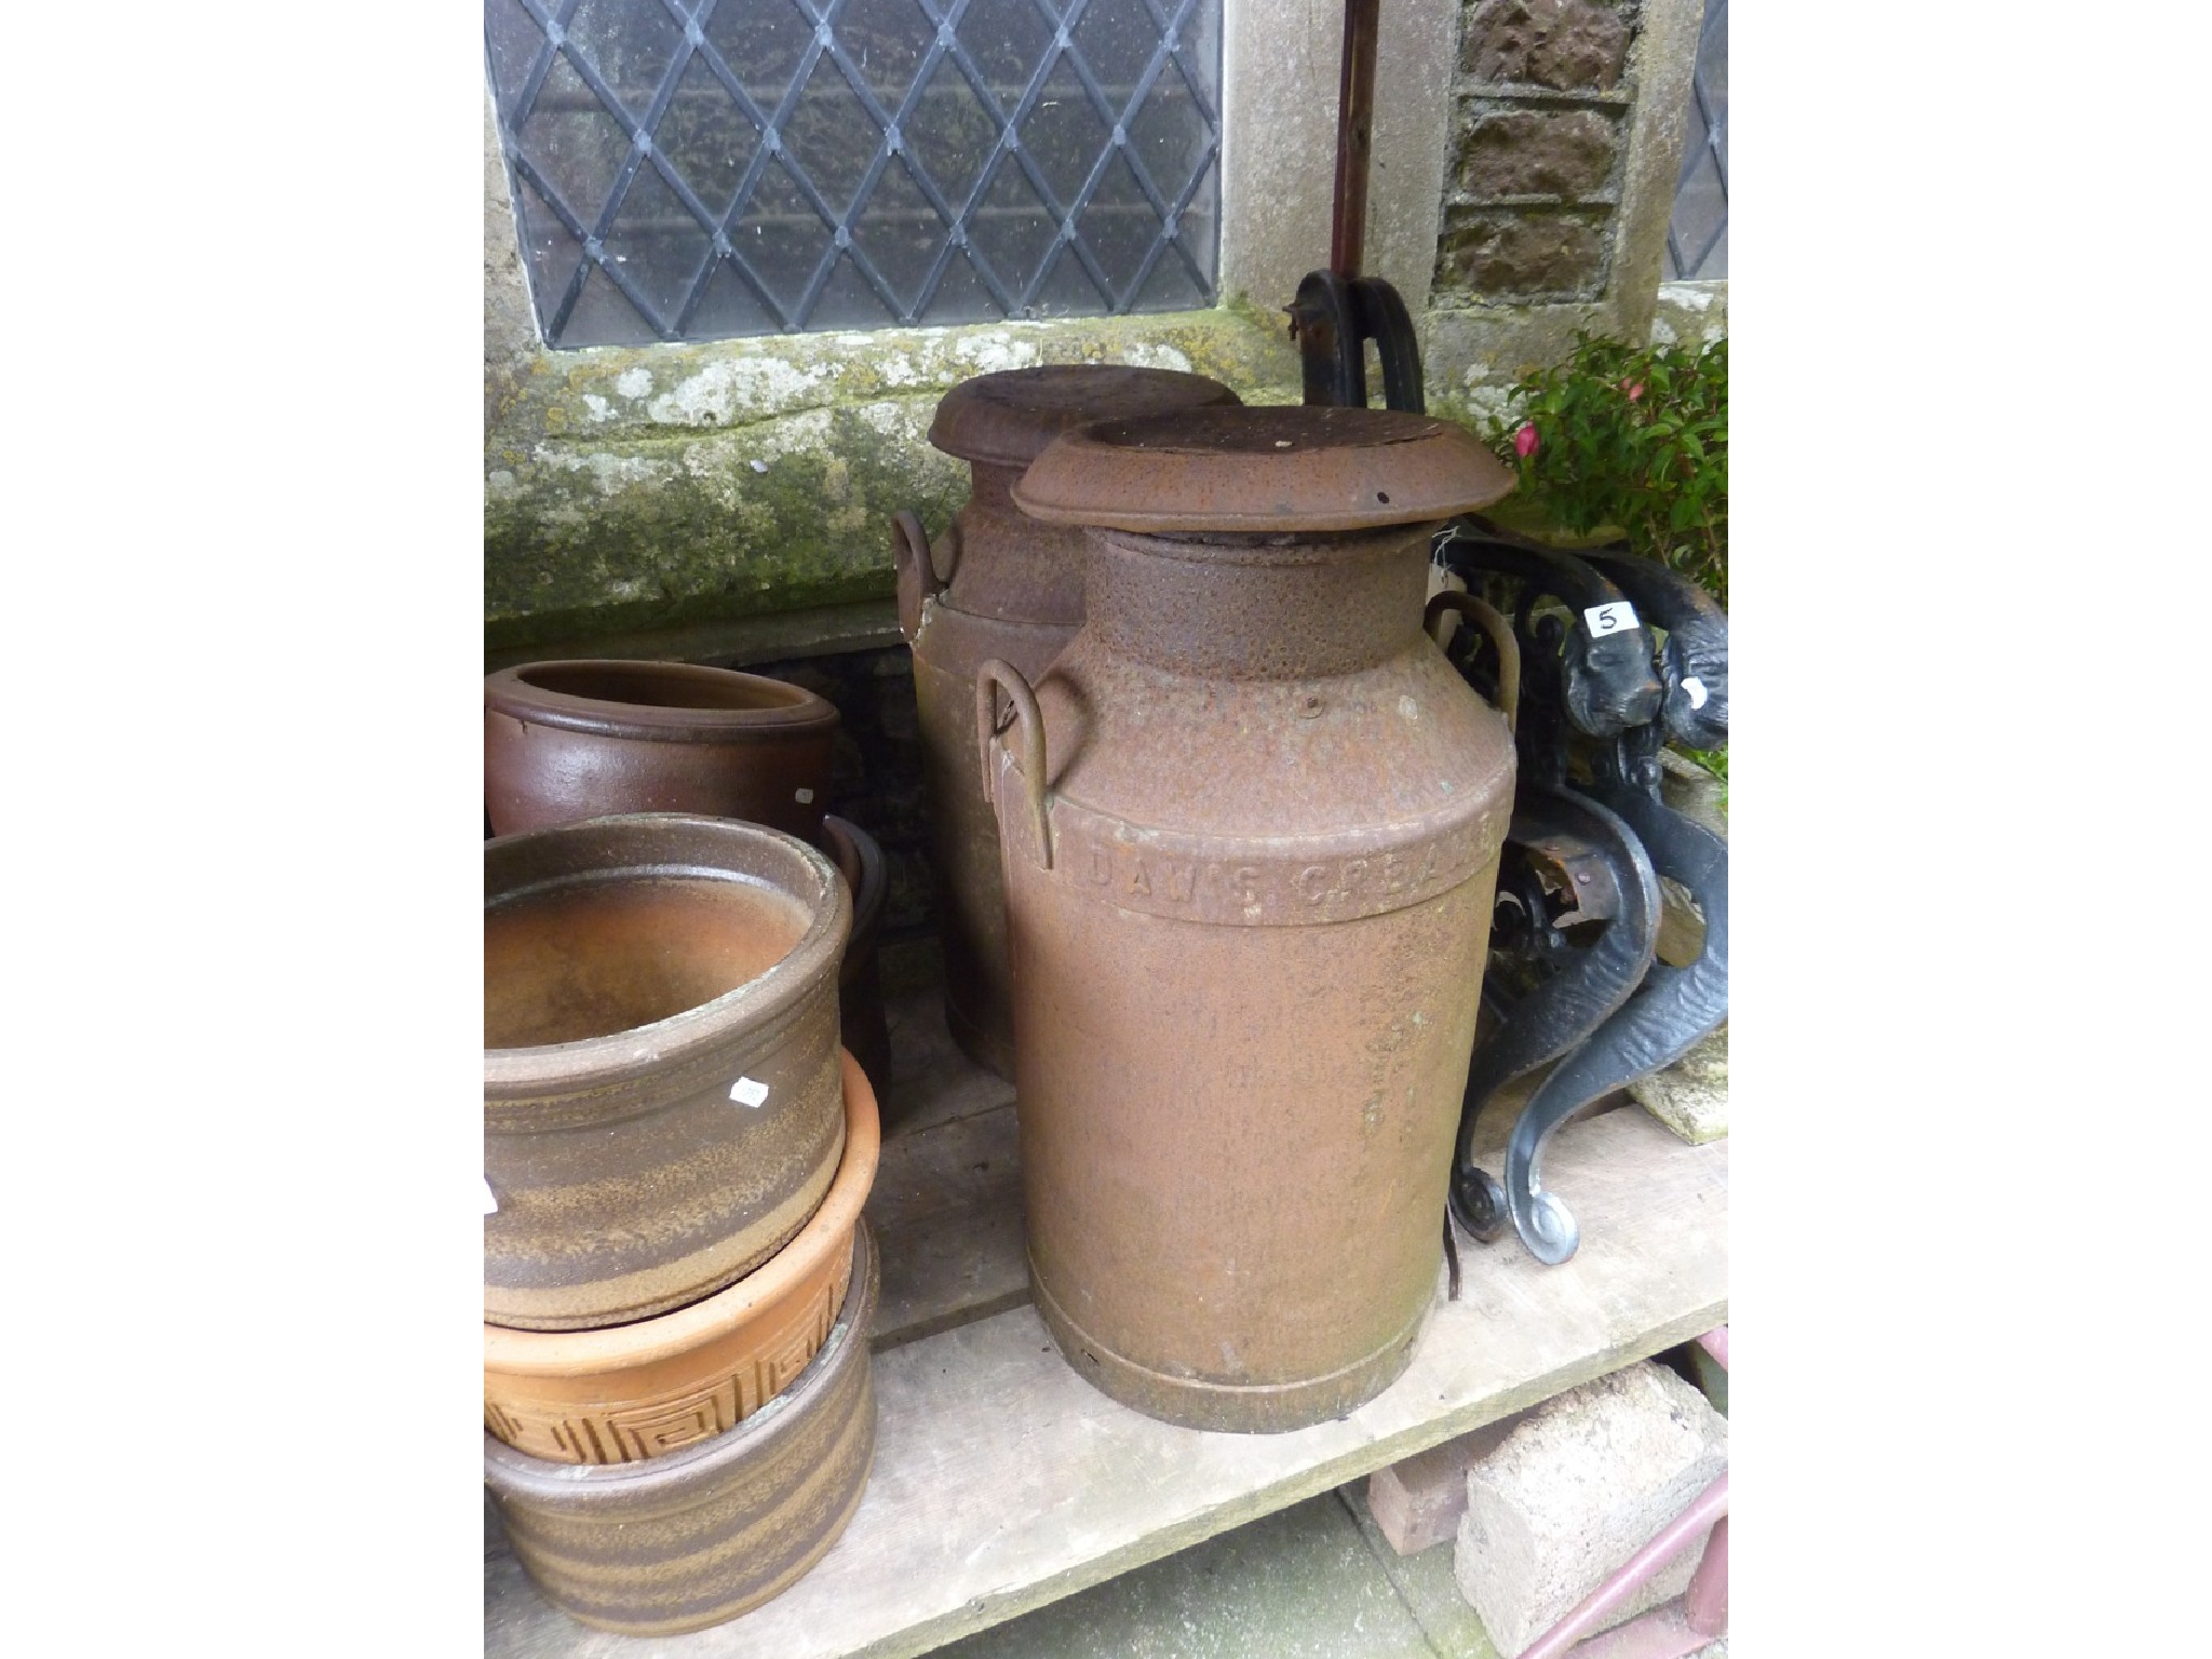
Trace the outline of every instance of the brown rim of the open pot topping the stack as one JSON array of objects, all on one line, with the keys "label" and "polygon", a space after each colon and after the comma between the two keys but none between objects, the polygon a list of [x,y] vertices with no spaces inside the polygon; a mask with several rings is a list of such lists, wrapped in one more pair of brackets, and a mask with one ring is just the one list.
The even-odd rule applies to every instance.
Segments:
[{"label": "brown rim of the open pot topping the stack", "polygon": [[[688,872],[703,874],[712,880],[750,880],[754,885],[783,891],[785,896],[799,898],[799,902],[807,905],[812,911],[807,929],[799,936],[792,949],[787,949],[763,973],[745,980],[743,984],[730,987],[710,1002],[684,1009],[681,1013],[670,1013],[666,1020],[611,1031],[599,1037],[577,1037],[575,1042],[542,1042],[524,1048],[484,1048],[487,1097],[526,1102],[533,1093],[575,1095],[586,1088],[604,1088],[622,1082],[648,1066],[666,1068],[681,1064],[717,1044],[730,1033],[732,1026],[765,1022],[803,1002],[805,995],[814,991],[814,980],[825,962],[830,964],[832,980],[836,978],[836,960],[852,933],[852,896],[845,891],[845,880],[838,874],[838,867],[830,863],[821,849],[810,847],[794,834],[772,830],[765,823],[708,818],[697,812],[622,812],[604,818],[557,823],[546,830],[524,830],[515,836],[495,836],[484,843],[484,856],[491,858],[500,849],[513,847],[522,841],[544,843],[553,838],[584,838],[588,832],[619,836],[622,827],[630,827],[633,834],[644,834],[646,830],[664,825],[681,825],[703,832],[710,838],[734,843],[765,838],[805,863],[807,872],[816,880],[818,896],[807,898],[805,894],[790,894],[790,889],[776,887],[759,876],[717,872],[708,865],[675,865],[668,858],[646,858],[628,865],[611,863],[593,874],[573,872],[573,878],[584,883],[611,880],[630,869],[659,874]],[[524,883],[515,887],[513,894],[502,894],[502,898],[526,894],[538,887],[564,885],[566,880],[566,876],[549,876],[540,883]],[[487,894],[487,909],[489,902],[491,896]]]}]

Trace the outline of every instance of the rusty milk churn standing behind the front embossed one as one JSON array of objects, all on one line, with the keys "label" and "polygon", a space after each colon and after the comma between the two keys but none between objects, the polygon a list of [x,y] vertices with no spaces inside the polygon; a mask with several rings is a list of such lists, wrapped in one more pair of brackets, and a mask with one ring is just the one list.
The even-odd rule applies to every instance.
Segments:
[{"label": "rusty milk churn standing behind the front embossed one", "polygon": [[1000,1077],[1013,1077],[1006,898],[998,821],[975,790],[975,664],[1000,657],[1035,679],[1084,619],[1082,531],[1022,518],[1006,491],[1068,427],[1234,403],[1234,392],[1203,374],[1106,363],[962,380],[938,405],[929,442],[969,462],[969,500],[933,551],[920,520],[898,515],[891,553],[922,717],[945,1022]]}]

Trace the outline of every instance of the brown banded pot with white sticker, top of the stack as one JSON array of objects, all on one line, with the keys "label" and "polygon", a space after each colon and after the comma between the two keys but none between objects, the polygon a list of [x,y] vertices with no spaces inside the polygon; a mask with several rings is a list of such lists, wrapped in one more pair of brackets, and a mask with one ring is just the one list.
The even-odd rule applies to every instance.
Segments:
[{"label": "brown banded pot with white sticker, top of the stack", "polygon": [[484,843],[484,1318],[584,1329],[768,1261],[845,1144],[852,900],[805,843],[593,818]]}]

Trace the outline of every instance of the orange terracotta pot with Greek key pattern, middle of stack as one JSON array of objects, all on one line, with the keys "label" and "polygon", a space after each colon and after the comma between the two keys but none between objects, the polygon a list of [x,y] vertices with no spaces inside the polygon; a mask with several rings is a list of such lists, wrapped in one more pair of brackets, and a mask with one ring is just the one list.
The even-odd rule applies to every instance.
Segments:
[{"label": "orange terracotta pot with Greek key pattern, middle of stack", "polygon": [[845,1157],[823,1208],[728,1290],[597,1332],[484,1325],[484,1427],[551,1462],[641,1462],[728,1433],[830,1338],[876,1181],[876,1095],[847,1053]]}]

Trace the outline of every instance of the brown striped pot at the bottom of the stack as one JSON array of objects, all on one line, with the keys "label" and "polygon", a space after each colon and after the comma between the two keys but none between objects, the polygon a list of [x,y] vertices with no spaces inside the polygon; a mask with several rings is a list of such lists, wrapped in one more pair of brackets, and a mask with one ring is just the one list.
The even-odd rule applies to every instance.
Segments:
[{"label": "brown striped pot at the bottom of the stack", "polygon": [[703,1630],[796,1584],[860,1506],[876,1455],[867,1329],[876,1252],[799,1380],[730,1433],[650,1462],[546,1462],[484,1436],[515,1559],[573,1619],[633,1637]]}]

